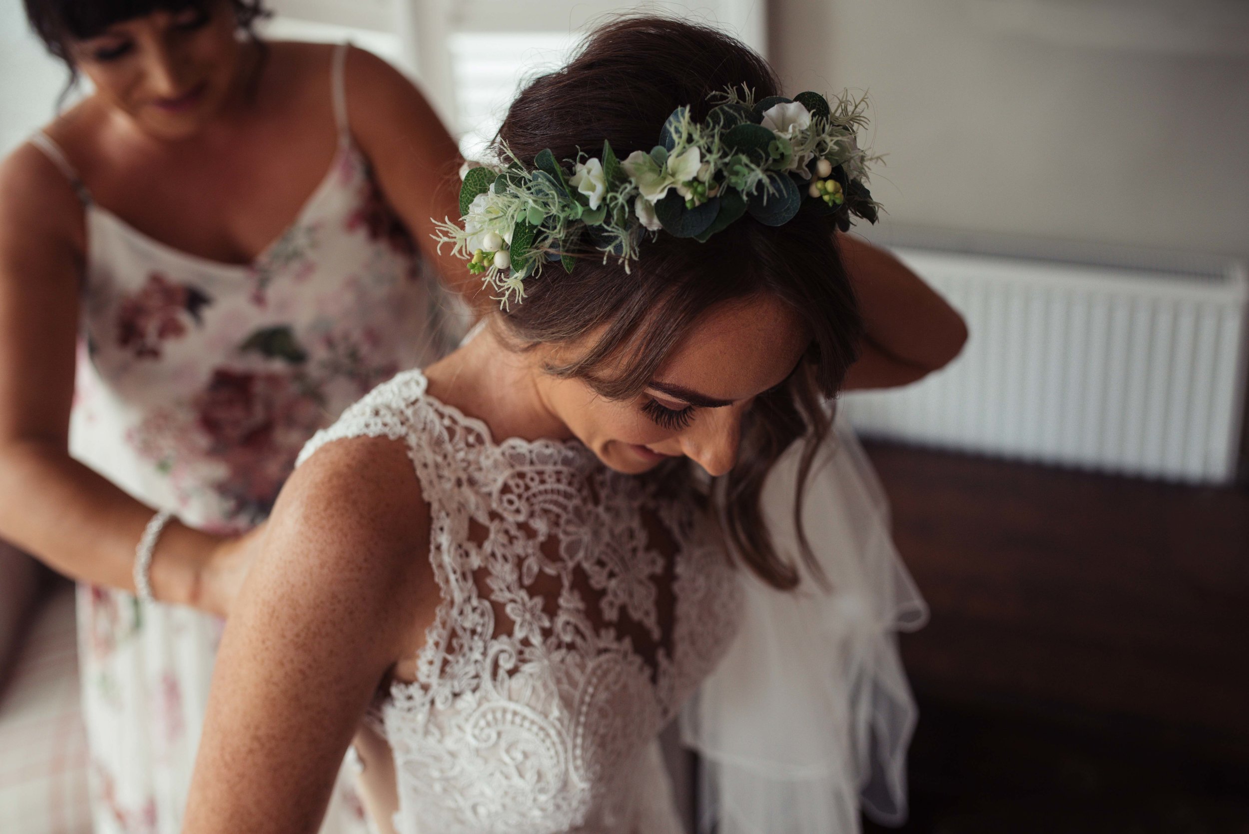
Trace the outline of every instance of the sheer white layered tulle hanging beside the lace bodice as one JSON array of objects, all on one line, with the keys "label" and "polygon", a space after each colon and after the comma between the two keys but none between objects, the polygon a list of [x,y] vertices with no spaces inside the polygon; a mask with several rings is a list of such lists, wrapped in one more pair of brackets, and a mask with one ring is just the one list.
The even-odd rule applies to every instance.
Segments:
[{"label": "sheer white layered tulle hanging beside the lace bodice", "polygon": [[[778,553],[803,566],[793,523],[802,444],[773,467],[764,513]],[[851,834],[859,809],[907,814],[916,705],[896,632],[928,609],[889,532],[876,472],[846,418],[812,468],[803,524],[832,591],[808,574],[779,592],[742,571],[741,632],[682,714],[703,758],[701,832]]]}]

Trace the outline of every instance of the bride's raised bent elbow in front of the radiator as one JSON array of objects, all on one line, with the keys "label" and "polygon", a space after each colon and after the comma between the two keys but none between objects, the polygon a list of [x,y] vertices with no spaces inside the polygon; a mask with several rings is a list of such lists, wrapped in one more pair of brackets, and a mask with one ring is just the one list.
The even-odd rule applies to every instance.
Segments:
[{"label": "bride's raised bent elbow in front of the radiator", "polygon": [[867,327],[846,390],[908,385],[958,356],[967,341],[958,311],[888,252],[851,235],[837,240]]}]

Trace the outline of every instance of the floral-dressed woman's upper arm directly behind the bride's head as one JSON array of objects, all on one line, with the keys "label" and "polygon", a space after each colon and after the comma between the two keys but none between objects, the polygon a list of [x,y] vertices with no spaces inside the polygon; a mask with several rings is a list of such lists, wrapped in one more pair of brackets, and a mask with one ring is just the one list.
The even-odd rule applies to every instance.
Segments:
[{"label": "floral-dressed woman's upper arm directly behind the bride's head", "polygon": [[346,61],[351,134],[373,166],[386,201],[443,282],[466,301],[490,305],[480,277],[431,237],[433,220],[460,220],[460,149],[421,91],[393,66],[360,49]]}]

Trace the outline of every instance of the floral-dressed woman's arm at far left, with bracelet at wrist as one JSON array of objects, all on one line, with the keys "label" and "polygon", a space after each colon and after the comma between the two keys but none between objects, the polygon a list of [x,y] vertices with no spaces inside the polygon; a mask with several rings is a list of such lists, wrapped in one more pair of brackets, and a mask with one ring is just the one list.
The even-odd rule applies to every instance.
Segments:
[{"label": "floral-dressed woman's arm at far left, with bracelet at wrist", "polygon": [[[152,509],[69,454],[82,207],[24,145],[0,164],[0,538],[84,582],[134,589]],[[157,599],[224,613],[209,569],[222,539],[172,523],[157,542]]]}]

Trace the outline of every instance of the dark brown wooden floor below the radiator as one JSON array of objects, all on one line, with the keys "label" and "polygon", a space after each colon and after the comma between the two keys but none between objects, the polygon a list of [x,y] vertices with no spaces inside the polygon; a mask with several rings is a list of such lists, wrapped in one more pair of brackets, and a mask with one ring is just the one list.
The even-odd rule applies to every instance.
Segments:
[{"label": "dark brown wooden floor below the radiator", "polygon": [[907,830],[1249,833],[1249,491],[867,448],[932,607]]}]

